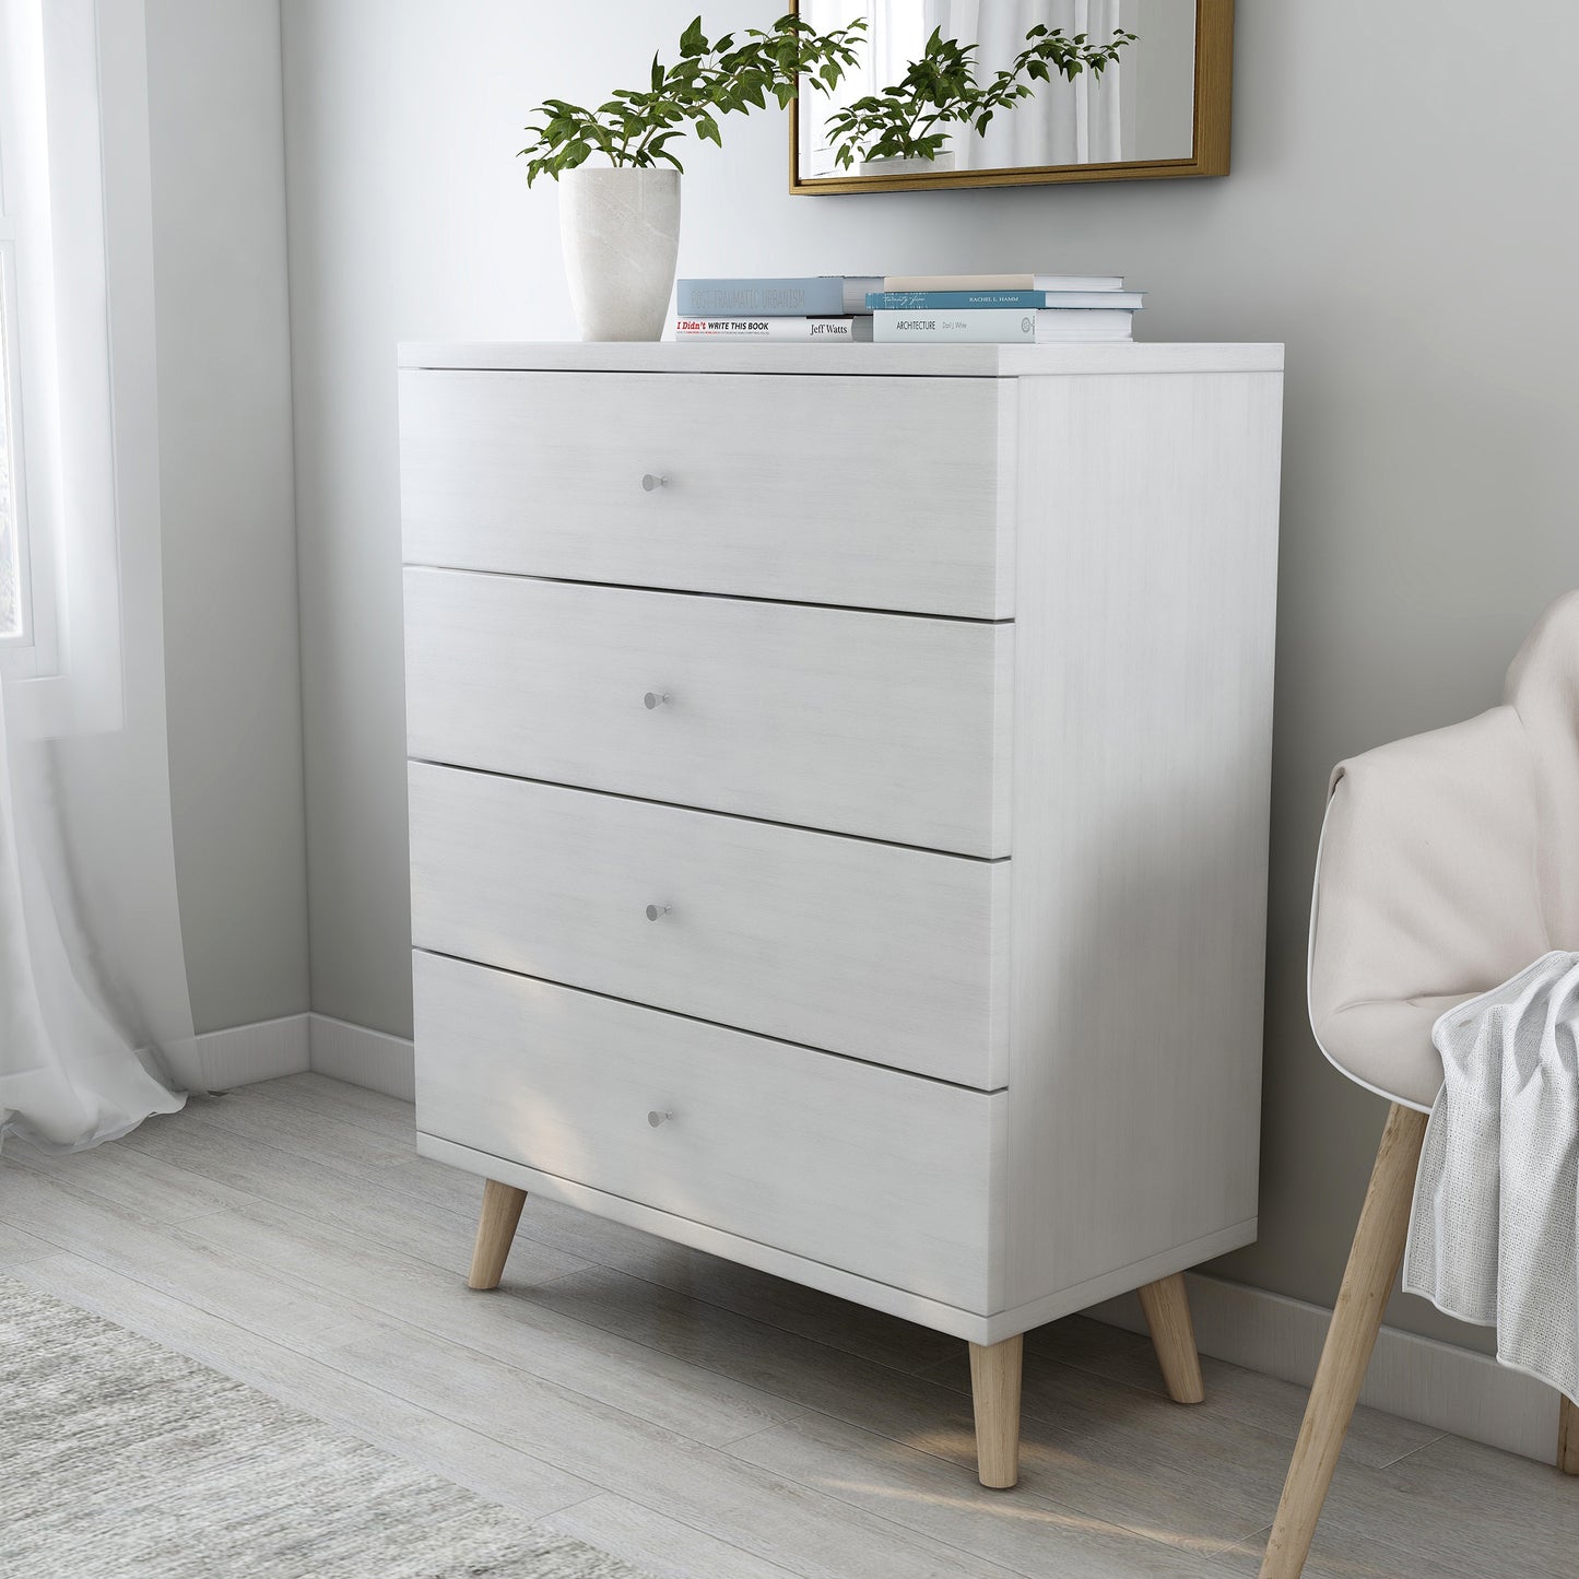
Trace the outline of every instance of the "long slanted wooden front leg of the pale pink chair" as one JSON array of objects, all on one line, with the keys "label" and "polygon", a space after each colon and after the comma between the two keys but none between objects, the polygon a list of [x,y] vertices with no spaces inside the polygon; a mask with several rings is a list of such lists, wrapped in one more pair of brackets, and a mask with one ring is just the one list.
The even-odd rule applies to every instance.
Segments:
[{"label": "long slanted wooden front leg of the pale pink chair", "polygon": [[1424,1138],[1424,1113],[1408,1107],[1394,1107],[1388,1113],[1344,1285],[1333,1309],[1333,1325],[1326,1331],[1311,1402],[1262,1560],[1262,1579],[1298,1579],[1309,1555],[1315,1521],[1333,1484],[1337,1454],[1382,1328],[1382,1312],[1404,1260],[1408,1208]]}]

